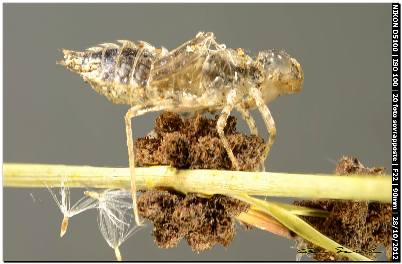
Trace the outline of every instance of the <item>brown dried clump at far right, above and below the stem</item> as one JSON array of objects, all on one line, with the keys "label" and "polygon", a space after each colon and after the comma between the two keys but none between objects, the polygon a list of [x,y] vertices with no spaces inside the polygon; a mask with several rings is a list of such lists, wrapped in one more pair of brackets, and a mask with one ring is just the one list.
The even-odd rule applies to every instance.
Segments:
[{"label": "brown dried clump at far right, above and below the stem", "polygon": [[[381,174],[385,167],[365,169],[356,158],[342,157],[335,172],[340,174]],[[303,200],[294,204],[311,208],[324,209],[329,212],[326,219],[302,217],[318,231],[351,250],[372,250],[386,246],[391,247],[391,204],[376,202],[357,202],[342,200]],[[327,252],[312,245],[316,251]],[[379,250],[374,250],[379,252]],[[375,260],[375,254],[365,254]],[[387,253],[390,260],[390,255]],[[349,260],[335,253],[314,254],[315,260]]]}]

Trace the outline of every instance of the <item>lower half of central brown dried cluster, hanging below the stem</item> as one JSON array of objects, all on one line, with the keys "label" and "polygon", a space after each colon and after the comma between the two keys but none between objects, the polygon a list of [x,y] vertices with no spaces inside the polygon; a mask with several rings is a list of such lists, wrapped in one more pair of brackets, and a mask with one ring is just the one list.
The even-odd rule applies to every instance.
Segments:
[{"label": "lower half of central brown dried cluster, hanging below the stem", "polygon": [[151,235],[156,245],[168,249],[185,238],[197,253],[215,243],[229,246],[236,235],[234,217],[249,209],[250,205],[222,195],[206,199],[150,190],[138,200],[139,214],[154,224]]}]

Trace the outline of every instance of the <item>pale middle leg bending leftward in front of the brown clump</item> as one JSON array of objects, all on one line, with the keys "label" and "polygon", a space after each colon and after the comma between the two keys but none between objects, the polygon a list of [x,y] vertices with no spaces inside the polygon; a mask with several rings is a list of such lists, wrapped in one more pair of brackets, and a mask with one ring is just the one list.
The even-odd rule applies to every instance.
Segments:
[{"label": "pale middle leg bending leftward in front of the brown clump", "polygon": [[216,124],[216,130],[218,131],[219,137],[222,140],[222,144],[224,144],[224,147],[226,148],[226,152],[228,153],[228,156],[230,160],[232,161],[232,165],[236,171],[239,170],[239,164],[234,157],[233,151],[229,146],[228,139],[225,136],[224,133],[224,128],[226,126],[226,120],[228,120],[230,111],[232,111],[235,103],[237,102],[237,95],[236,95],[236,90],[232,89],[228,93],[228,97],[226,97],[226,105],[222,109],[221,115],[219,116],[218,122]]}]

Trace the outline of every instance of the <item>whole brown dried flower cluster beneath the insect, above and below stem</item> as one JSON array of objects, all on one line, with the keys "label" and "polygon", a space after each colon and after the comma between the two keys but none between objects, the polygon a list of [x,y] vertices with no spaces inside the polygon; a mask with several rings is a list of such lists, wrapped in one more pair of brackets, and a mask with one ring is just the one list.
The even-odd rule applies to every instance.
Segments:
[{"label": "whole brown dried flower cluster beneath the insect, above and below stem", "polygon": [[[180,115],[164,112],[155,121],[156,138],[135,142],[137,162],[142,165],[173,165],[190,169],[233,169],[216,130],[215,120],[197,115],[183,122]],[[236,118],[230,116],[224,128],[240,170],[254,171],[265,141],[259,136],[236,133]],[[222,195],[210,199],[194,194],[172,194],[162,190],[144,192],[138,200],[141,217],[152,221],[155,244],[168,249],[185,238],[195,251],[208,250],[215,243],[227,247],[236,235],[235,217],[250,205]]]}]

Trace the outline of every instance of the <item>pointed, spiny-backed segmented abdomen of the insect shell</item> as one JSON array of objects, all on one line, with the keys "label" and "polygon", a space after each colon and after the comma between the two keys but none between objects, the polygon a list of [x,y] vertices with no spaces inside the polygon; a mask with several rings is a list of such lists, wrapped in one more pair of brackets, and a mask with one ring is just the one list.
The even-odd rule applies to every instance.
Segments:
[{"label": "pointed, spiny-backed segmented abdomen of the insect shell", "polygon": [[141,103],[147,100],[147,82],[152,62],[162,50],[148,43],[135,45],[131,41],[117,41],[90,47],[85,52],[63,50],[65,60],[59,62],[77,72],[99,94],[114,103]]}]

